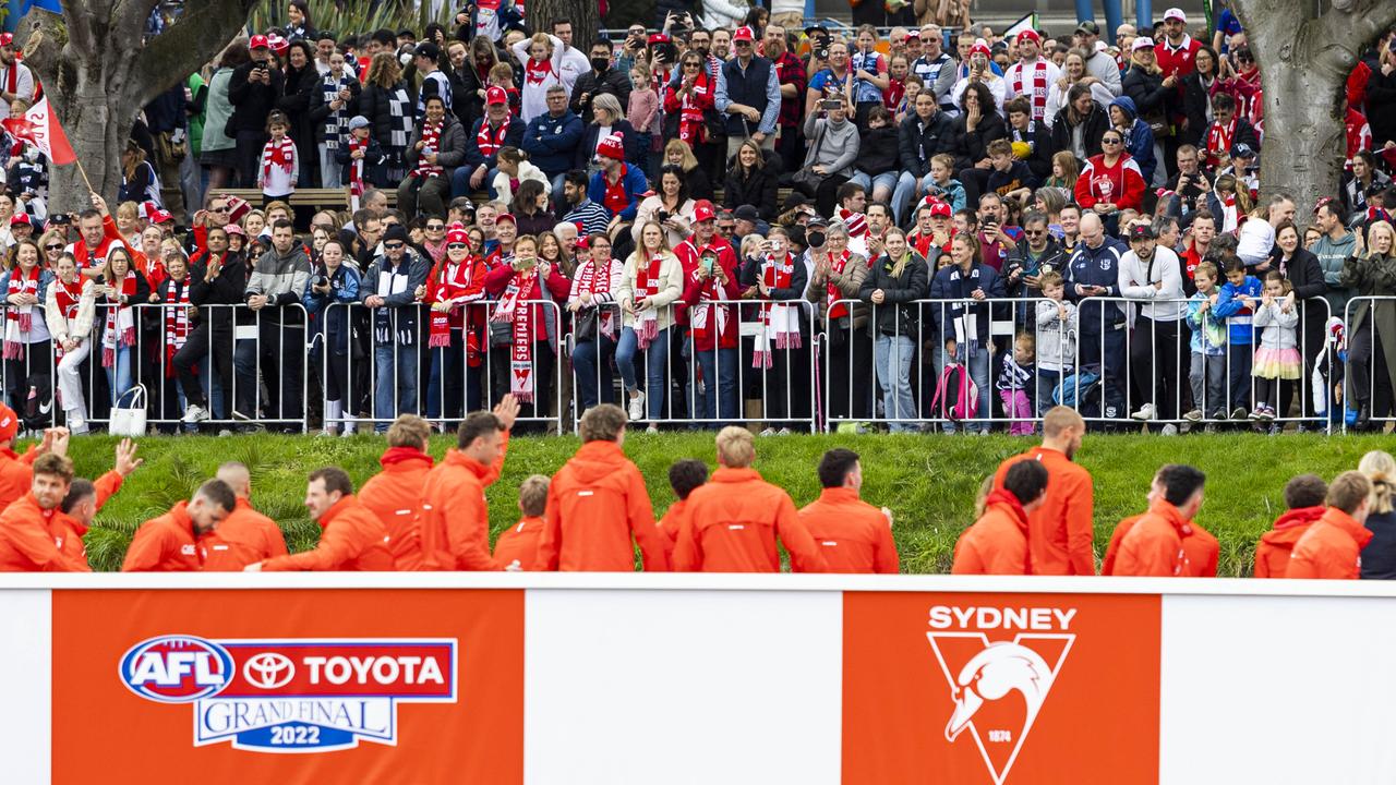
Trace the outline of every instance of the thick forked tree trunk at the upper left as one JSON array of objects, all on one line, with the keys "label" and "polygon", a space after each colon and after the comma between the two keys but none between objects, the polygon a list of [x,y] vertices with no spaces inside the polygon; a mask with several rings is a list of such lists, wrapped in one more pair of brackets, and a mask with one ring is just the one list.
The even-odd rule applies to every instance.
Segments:
[{"label": "thick forked tree trunk at the upper left", "polygon": [[121,149],[141,109],[212,60],[246,24],[253,0],[188,0],[179,20],[142,43],[156,4],[67,0],[63,15],[31,10],[21,21],[24,60],[81,163],[49,168],[52,211],[91,207],[89,190],[114,200]]}]

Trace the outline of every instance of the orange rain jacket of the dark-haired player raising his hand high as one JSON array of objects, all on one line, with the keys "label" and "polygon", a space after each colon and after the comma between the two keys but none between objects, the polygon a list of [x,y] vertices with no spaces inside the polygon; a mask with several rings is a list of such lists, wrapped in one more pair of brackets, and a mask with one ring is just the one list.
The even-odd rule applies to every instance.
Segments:
[{"label": "orange rain jacket of the dark-haired player raising his hand high", "polygon": [[422,487],[422,556],[427,570],[498,570],[490,557],[490,506],[484,489],[500,479],[504,448],[486,467],[459,450],[427,472]]}]

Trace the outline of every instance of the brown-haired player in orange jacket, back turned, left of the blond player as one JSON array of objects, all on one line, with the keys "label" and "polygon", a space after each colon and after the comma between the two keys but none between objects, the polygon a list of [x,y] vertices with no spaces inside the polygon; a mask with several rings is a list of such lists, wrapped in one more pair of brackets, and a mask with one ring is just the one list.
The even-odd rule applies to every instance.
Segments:
[{"label": "brown-haired player in orange jacket, back turned, left of the blond player", "polygon": [[582,447],[547,486],[539,568],[632,573],[638,545],[646,571],[667,571],[664,535],[655,525],[645,478],[621,451],[625,412],[614,404],[592,406],[578,433]]}]

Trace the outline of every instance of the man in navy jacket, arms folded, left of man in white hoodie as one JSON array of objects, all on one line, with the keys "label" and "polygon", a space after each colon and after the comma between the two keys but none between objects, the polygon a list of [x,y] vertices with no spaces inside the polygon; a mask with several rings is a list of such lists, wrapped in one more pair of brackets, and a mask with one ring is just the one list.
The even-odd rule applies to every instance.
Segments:
[{"label": "man in navy jacket, arms folded, left of man in white hoodie", "polygon": [[1081,217],[1081,235],[1067,270],[1067,296],[1079,306],[1082,369],[1094,366],[1104,387],[1106,419],[1125,416],[1125,311],[1118,302],[1094,298],[1120,296],[1120,257],[1124,243],[1106,235],[1094,212]]}]

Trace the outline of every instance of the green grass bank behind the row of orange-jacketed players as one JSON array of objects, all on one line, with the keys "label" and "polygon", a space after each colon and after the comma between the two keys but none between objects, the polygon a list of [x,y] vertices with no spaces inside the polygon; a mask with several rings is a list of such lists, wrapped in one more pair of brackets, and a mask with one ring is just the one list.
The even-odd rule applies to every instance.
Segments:
[{"label": "green grass bank behind the row of orange-jacketed players", "polygon": [[[431,443],[438,458],[454,440]],[[515,439],[504,476],[489,490],[494,534],[518,520],[517,490],[532,474],[553,474],[571,457],[571,437]],[[785,486],[797,506],[818,496],[814,467],[831,447],[863,455],[863,497],[888,506],[896,515],[896,542],[906,573],[949,570],[955,539],[973,514],[974,493],[998,462],[1036,440],[1008,436],[783,436],[757,440],[757,468]],[[1115,522],[1145,507],[1154,469],[1167,462],[1189,462],[1208,474],[1208,497],[1198,522],[1222,542],[1220,574],[1247,575],[1255,541],[1284,508],[1282,490],[1289,478],[1315,472],[1325,479],[1357,467],[1368,450],[1389,448],[1383,436],[1323,437],[1314,434],[1215,434],[1177,439],[1148,436],[1087,436],[1078,455],[1096,479],[1096,550],[1103,553]],[[113,439],[77,439],[71,454],[81,476],[110,468]],[[378,471],[381,439],[317,439],[296,436],[240,436],[229,439],[179,436],[141,441],[141,467],[98,515],[87,536],[95,570],[120,568],[135,527],[155,517],[212,475],[223,461],[251,468],[253,503],[281,522],[292,550],[311,548],[318,527],[304,513],[306,474],[339,465],[359,485]],[[671,501],[666,471],[678,458],[701,458],[713,465],[711,433],[632,434],[625,453],[644,472],[656,511]]]}]

